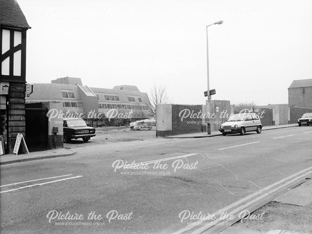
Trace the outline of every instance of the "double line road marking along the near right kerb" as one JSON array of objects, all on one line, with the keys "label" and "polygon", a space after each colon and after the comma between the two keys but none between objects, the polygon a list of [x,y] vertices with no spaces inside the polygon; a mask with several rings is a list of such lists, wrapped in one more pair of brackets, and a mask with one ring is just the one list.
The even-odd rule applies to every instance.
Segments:
[{"label": "double line road marking along the near right kerb", "polygon": [[[239,204],[241,204],[241,203],[243,203],[243,202],[245,202],[245,201],[247,201],[247,200],[249,200],[249,199],[251,199],[251,198],[253,198],[253,197],[256,197],[257,195],[259,195],[259,194],[265,192],[266,190],[268,190],[268,189],[270,189],[270,188],[273,188],[274,186],[279,185],[279,184],[283,183],[284,181],[286,181],[286,180],[288,180],[288,179],[290,179],[290,178],[293,178],[293,177],[295,177],[295,176],[297,176],[297,175],[299,175],[299,174],[301,174],[301,173],[304,173],[304,172],[306,172],[306,171],[308,171],[308,170],[310,170],[310,169],[312,169],[312,167],[306,168],[305,170],[302,170],[302,171],[297,172],[297,173],[295,173],[295,174],[293,174],[293,175],[291,175],[291,176],[289,176],[289,177],[286,177],[286,178],[284,178],[284,179],[281,179],[280,181],[278,181],[278,182],[276,182],[276,183],[274,183],[274,184],[271,184],[271,185],[267,186],[266,188],[263,188],[263,189],[261,189],[261,190],[255,192],[255,193],[252,193],[252,194],[248,195],[247,197],[244,197],[244,198],[242,198],[241,200],[238,200],[237,202],[234,202],[234,203],[232,203],[231,205],[229,205],[229,206],[227,206],[227,207],[224,207],[224,208],[222,208],[221,210],[218,210],[217,212],[214,212],[213,214],[214,214],[215,216],[218,216],[218,215],[221,214],[221,212],[223,212],[223,211],[228,211],[229,209],[231,209],[231,208],[233,208],[233,207],[236,207],[237,205],[239,205]],[[301,176],[298,177],[298,178],[303,178],[303,177],[305,177],[306,175],[309,175],[310,173],[311,173],[311,172],[308,172],[308,173],[306,173],[306,174],[304,174],[304,175],[301,175]],[[298,178],[295,178],[295,179],[293,179],[293,180],[297,180]],[[292,183],[293,180],[291,180],[290,183]],[[278,187],[278,188],[280,188],[280,187]],[[270,193],[270,192],[267,192],[267,193]],[[204,221],[205,221],[205,220],[202,220],[202,219],[201,219],[201,220],[198,220],[198,224],[200,224],[200,223],[202,223],[202,222],[204,222]],[[199,225],[197,225],[197,226],[199,226]],[[184,228],[178,230],[177,232],[174,232],[173,234],[181,234],[181,233],[183,233],[183,232],[186,232],[186,231],[189,231],[189,230],[193,229],[194,227],[196,227],[196,226],[188,225],[188,226],[186,226],[186,227],[184,227]]]}]

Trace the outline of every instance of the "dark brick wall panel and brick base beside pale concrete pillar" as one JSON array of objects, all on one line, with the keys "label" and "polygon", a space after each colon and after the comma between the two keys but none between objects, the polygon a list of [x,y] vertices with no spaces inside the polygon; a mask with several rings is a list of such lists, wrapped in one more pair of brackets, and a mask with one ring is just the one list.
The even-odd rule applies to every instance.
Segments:
[{"label": "dark brick wall panel and brick base beside pale concrete pillar", "polygon": [[202,132],[202,119],[191,118],[189,115],[181,121],[179,113],[184,109],[190,110],[191,113],[198,113],[202,111],[202,105],[172,105],[172,130],[158,131],[156,130],[156,136],[169,136],[187,133]]}]

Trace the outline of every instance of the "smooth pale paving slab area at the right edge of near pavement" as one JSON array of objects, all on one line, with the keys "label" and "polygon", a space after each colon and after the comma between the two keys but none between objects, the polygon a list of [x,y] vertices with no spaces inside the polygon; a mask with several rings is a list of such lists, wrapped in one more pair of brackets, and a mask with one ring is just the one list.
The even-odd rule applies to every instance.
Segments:
[{"label": "smooth pale paving slab area at the right edge of near pavement", "polygon": [[288,192],[276,197],[276,202],[306,206],[312,202],[312,180],[289,190]]}]

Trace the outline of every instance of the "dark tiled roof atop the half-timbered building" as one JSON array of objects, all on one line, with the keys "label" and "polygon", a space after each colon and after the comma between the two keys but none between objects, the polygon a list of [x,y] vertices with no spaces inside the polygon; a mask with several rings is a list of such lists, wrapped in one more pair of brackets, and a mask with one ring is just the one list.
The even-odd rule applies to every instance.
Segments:
[{"label": "dark tiled roof atop the half-timbered building", "polygon": [[31,28],[16,0],[0,0],[1,26]]}]

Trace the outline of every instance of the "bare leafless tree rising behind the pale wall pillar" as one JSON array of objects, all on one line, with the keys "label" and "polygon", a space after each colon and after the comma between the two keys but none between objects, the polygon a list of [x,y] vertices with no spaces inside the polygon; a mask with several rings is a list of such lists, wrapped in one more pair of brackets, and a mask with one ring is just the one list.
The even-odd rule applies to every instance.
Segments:
[{"label": "bare leafless tree rising behind the pale wall pillar", "polygon": [[149,107],[149,110],[152,112],[152,114],[156,115],[157,104],[168,104],[169,102],[171,102],[171,100],[167,95],[166,86],[157,86],[154,83],[154,86],[150,90],[149,101],[145,101],[145,104]]}]

